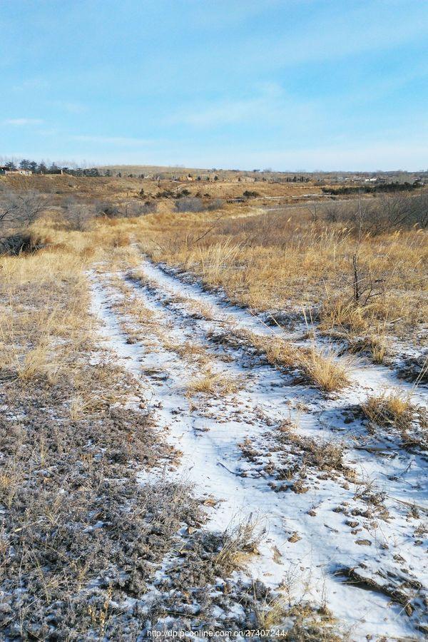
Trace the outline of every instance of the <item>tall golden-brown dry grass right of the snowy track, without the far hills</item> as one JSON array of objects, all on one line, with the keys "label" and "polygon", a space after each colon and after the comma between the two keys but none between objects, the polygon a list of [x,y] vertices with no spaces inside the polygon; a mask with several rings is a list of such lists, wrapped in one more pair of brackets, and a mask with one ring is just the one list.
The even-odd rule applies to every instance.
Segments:
[{"label": "tall golden-brown dry grass right of the snowy track, without the far hills", "polygon": [[[203,240],[189,242],[213,225]],[[352,301],[352,229],[314,223],[305,208],[245,216],[237,205],[218,223],[211,213],[158,213],[138,221],[136,235],[155,260],[222,287],[233,302],[290,312],[310,305],[323,332],[412,335],[428,316],[427,233],[416,228],[363,235],[360,267],[374,296],[358,304]]]}]

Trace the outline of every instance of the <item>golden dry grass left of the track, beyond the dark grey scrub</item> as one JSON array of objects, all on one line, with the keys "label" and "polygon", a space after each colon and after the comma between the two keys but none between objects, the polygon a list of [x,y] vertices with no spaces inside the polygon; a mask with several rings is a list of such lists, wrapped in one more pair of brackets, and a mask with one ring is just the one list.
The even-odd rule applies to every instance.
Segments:
[{"label": "golden dry grass left of the track, beyond the dark grey scrub", "polygon": [[[95,261],[106,265],[108,260],[109,269],[132,265],[138,250],[118,243],[123,231],[111,233],[104,225],[70,232],[46,218],[34,224],[32,233],[47,243],[44,250],[0,257],[1,377],[22,385],[33,379],[48,384],[71,379],[69,407],[76,418],[121,396],[107,377],[95,403],[91,382],[78,365],[81,352],[93,349],[86,271]],[[101,382],[102,370],[99,374]]]}]

